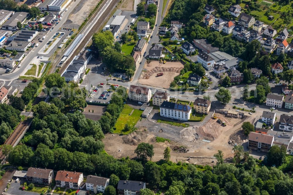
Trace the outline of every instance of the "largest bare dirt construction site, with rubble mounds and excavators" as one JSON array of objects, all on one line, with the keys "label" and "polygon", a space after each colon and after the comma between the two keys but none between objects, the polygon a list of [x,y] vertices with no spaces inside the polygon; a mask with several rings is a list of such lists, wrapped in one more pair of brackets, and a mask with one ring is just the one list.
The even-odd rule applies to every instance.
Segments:
[{"label": "largest bare dirt construction site, with rubble mounds and excavators", "polygon": [[[136,125],[139,129],[138,132],[126,136],[106,134],[103,143],[107,153],[116,158],[126,156],[135,158],[134,150],[137,144],[147,142],[154,145],[154,161],[162,159],[164,149],[166,146],[169,146],[173,149],[180,147],[188,149],[186,153],[178,152],[178,150],[171,151],[171,160],[173,162],[212,164],[212,161],[215,161],[213,155],[218,150],[224,152],[224,158],[233,156],[232,148],[234,145],[228,143],[230,135],[240,131],[243,122],[253,122],[255,119],[252,116],[236,119],[224,117],[224,115],[220,114],[216,115],[219,119],[226,122],[226,127],[218,124],[215,119],[209,119],[205,126],[191,126],[188,128],[154,123],[147,119],[142,119]],[[168,138],[171,142],[157,143],[155,140],[156,136]]]}]

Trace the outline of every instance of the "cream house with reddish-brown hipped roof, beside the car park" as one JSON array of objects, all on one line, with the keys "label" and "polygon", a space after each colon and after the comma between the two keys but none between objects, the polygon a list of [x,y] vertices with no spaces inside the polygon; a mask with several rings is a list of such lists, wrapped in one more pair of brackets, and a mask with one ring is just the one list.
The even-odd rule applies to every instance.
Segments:
[{"label": "cream house with reddish-brown hipped roof, beside the car park", "polygon": [[151,100],[151,90],[146,87],[130,85],[128,91],[128,98],[131,101],[149,102],[149,100]]}]

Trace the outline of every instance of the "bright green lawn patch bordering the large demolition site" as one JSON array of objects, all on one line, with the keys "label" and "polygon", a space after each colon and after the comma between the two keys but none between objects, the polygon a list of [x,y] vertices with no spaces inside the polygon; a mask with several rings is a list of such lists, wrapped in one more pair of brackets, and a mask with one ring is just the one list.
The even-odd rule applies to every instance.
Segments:
[{"label": "bright green lawn patch bordering the large demolition site", "polygon": [[129,126],[133,127],[137,123],[137,121],[140,119],[140,116],[142,115],[142,110],[134,110],[131,115],[129,115],[132,112],[133,108],[129,105],[124,105],[124,108],[120,114],[120,116],[117,119],[117,122],[114,127],[114,133],[116,134],[129,134],[130,131],[122,131],[124,129],[125,124],[128,124]]}]

